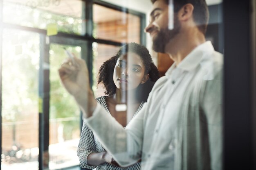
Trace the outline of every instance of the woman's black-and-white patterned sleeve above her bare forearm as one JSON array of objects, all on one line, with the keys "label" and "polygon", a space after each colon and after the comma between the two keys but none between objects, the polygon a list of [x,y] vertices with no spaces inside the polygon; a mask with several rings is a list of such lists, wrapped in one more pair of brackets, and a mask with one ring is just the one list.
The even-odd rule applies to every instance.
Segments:
[{"label": "woman's black-and-white patterned sleeve above her bare forearm", "polygon": [[79,157],[81,168],[94,169],[97,166],[89,166],[87,158],[90,153],[95,153],[96,147],[94,142],[94,136],[91,129],[83,122],[83,128],[81,138],[79,140],[77,148],[77,156]]}]

